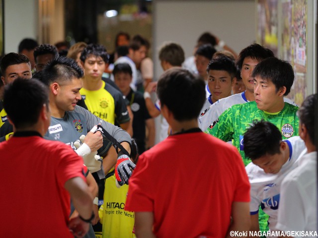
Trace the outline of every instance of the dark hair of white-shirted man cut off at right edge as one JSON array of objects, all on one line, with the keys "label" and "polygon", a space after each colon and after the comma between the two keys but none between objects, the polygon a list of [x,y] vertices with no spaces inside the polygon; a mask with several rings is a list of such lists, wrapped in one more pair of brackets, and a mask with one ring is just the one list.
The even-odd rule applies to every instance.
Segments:
[{"label": "dark hair of white-shirted man cut off at right edge", "polygon": [[312,144],[317,143],[317,129],[315,124],[317,121],[317,113],[315,108],[317,107],[317,93],[308,96],[298,111],[300,124],[304,124],[307,128],[309,138]]}]

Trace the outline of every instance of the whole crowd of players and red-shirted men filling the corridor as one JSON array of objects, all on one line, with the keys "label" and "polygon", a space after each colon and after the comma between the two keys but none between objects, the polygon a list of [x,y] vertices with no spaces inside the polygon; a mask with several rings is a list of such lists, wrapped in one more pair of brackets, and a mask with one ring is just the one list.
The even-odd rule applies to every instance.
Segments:
[{"label": "whole crowd of players and red-shirted men filling the corridor", "polygon": [[317,94],[286,97],[290,62],[205,32],[156,81],[147,39],[115,42],[1,58],[1,237],[318,236]]}]

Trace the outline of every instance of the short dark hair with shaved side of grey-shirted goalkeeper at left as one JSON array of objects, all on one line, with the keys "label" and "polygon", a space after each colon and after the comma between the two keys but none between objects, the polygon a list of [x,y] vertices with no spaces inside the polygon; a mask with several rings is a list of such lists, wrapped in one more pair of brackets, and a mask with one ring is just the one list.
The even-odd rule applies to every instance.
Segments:
[{"label": "short dark hair with shaved side of grey-shirted goalkeeper at left", "polygon": [[45,80],[46,85],[54,82],[64,85],[71,82],[74,77],[81,78],[83,69],[75,60],[60,56],[45,65],[41,74],[42,82]]}]

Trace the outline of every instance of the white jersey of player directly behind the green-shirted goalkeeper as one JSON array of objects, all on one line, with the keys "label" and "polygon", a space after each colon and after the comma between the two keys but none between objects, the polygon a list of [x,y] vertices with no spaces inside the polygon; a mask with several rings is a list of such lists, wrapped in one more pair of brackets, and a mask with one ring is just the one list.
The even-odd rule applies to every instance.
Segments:
[{"label": "white jersey of player directly behind the green-shirted goalkeeper", "polygon": [[[212,104],[210,107],[202,110],[202,113],[198,117],[199,128],[205,131],[214,121],[216,121],[221,114],[233,105],[247,103],[245,97],[245,91],[242,93],[231,95],[227,98],[222,98]],[[289,98],[284,98],[284,102],[297,106]]]}]

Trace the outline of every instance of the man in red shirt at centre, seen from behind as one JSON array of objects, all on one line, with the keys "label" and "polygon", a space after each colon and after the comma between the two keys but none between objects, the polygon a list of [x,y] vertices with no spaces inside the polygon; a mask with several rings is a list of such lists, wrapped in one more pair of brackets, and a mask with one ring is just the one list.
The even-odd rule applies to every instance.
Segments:
[{"label": "man in red shirt at centre, seen from behind", "polygon": [[125,210],[135,212],[136,236],[230,237],[230,231],[247,231],[250,186],[239,153],[198,128],[205,83],[171,68],[161,75],[157,93],[172,134],[139,157],[129,180]]}]

